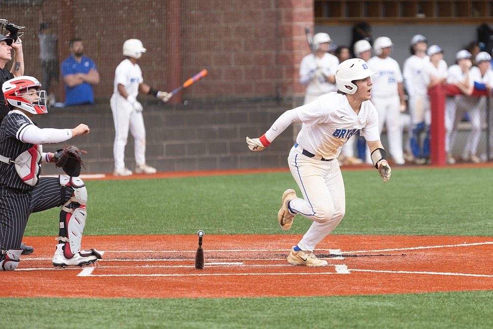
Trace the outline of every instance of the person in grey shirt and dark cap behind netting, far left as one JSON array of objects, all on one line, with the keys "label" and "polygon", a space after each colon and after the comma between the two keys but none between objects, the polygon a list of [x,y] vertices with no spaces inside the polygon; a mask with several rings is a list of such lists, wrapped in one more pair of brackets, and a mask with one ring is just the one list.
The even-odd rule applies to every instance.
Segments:
[{"label": "person in grey shirt and dark cap behind netting, far left", "polygon": [[51,81],[58,82],[60,67],[57,58],[58,37],[53,31],[49,22],[39,23],[39,59],[41,60],[41,69],[43,72],[42,85],[48,94],[47,103],[50,106],[55,104],[55,95],[51,87]]}]

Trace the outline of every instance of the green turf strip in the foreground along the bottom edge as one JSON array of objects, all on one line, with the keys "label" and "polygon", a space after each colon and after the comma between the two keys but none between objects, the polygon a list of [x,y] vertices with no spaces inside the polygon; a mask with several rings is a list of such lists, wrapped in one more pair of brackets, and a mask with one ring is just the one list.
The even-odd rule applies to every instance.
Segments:
[{"label": "green turf strip in the foreground along the bottom edge", "polygon": [[[329,284],[329,283],[328,283]],[[493,292],[271,298],[0,298],[2,328],[492,328]],[[13,313],[15,310],[15,314]]]}]

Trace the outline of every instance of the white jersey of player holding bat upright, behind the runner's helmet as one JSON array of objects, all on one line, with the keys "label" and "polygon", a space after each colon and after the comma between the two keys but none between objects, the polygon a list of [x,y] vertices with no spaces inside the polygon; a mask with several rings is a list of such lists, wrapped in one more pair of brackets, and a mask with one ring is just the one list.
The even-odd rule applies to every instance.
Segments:
[{"label": "white jersey of player holding bat upright, behind the runner's helmet", "polygon": [[324,54],[320,59],[316,59],[314,54],[303,57],[300,64],[300,83],[307,86],[304,104],[312,102],[318,96],[337,90],[335,83],[330,83],[315,74],[319,69],[325,76],[333,76],[338,65],[339,59],[329,53]]}]

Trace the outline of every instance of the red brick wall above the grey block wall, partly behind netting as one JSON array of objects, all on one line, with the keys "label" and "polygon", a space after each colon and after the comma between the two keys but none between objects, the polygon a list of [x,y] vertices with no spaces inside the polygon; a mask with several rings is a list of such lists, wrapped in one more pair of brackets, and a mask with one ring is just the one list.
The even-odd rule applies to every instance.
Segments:
[{"label": "red brick wall above the grey block wall, partly behind netting", "polygon": [[[45,0],[3,4],[1,18],[25,25],[26,74],[41,77],[37,26],[40,16],[58,30],[62,61],[78,36],[98,66],[98,100],[107,101],[128,38],[142,40],[144,80],[171,91],[207,69],[208,76],[183,92],[187,98],[300,96],[298,71],[308,53],[304,27],[313,28],[313,0]],[[181,22],[176,26],[176,22]],[[10,64],[7,64],[10,67]],[[171,75],[171,76],[170,76]],[[62,88],[59,88],[63,97]],[[179,98],[174,98],[179,101]]]}]

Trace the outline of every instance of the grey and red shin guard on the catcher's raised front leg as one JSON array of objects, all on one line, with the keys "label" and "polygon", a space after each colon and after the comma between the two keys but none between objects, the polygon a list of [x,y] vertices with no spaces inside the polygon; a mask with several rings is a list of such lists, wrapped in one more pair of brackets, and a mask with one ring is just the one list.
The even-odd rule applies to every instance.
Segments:
[{"label": "grey and red shin guard on the catcher's raised front leg", "polygon": [[[82,233],[86,224],[87,189],[84,182],[77,177],[60,175],[62,186],[71,186],[72,196],[62,206],[60,212],[60,232],[58,241],[65,242],[65,257],[71,258],[80,251]],[[70,248],[67,248],[67,244]]]}]

